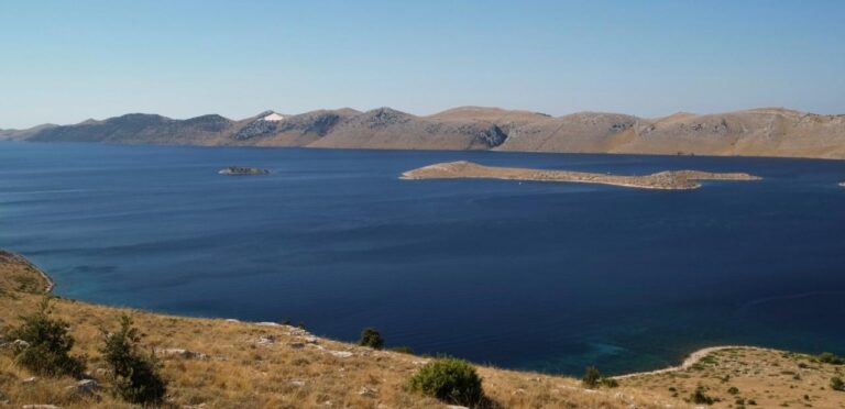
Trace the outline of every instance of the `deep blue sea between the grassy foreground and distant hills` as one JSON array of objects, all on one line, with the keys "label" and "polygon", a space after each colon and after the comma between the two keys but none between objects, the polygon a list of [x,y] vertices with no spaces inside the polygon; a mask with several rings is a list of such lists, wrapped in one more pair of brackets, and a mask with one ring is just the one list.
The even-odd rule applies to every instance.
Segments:
[{"label": "deep blue sea between the grassy foreground and distant hills", "polygon": [[[397,178],[457,159],[765,180]],[[272,175],[217,175],[229,165]],[[725,343],[845,354],[842,180],[833,161],[4,142],[0,247],[64,297],[623,373]]]}]

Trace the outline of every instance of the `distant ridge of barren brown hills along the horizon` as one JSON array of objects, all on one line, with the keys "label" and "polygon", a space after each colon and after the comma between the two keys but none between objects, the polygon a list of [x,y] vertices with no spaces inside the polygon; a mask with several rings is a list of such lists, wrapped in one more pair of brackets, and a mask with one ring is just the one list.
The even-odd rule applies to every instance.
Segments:
[{"label": "distant ridge of barren brown hills along the horizon", "polygon": [[646,119],[579,112],[562,117],[486,107],[432,115],[391,108],[366,112],[265,111],[243,120],[217,114],[175,120],[130,113],[75,125],[0,130],[0,139],[205,146],[482,150],[560,153],[739,155],[845,158],[845,115],[782,108]]}]

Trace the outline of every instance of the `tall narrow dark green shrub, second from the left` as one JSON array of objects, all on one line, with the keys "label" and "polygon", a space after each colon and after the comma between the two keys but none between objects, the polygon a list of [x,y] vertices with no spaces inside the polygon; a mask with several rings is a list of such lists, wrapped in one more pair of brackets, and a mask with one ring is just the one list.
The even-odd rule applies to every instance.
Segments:
[{"label": "tall narrow dark green shrub, second from the left", "polygon": [[100,352],[111,369],[112,393],[131,404],[161,404],[167,383],[158,373],[161,365],[155,356],[140,352],[141,335],[132,327],[132,319],[121,317],[120,330],[110,333],[103,329],[102,338]]}]

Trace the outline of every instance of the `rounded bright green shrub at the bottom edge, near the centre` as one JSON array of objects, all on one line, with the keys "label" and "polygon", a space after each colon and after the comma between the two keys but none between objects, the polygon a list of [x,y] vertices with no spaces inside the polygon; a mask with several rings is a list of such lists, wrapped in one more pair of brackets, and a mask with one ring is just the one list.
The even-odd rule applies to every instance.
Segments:
[{"label": "rounded bright green shrub at the bottom edge, near the centre", "polygon": [[428,363],[410,378],[409,388],[442,401],[479,406],[484,400],[481,377],[462,360],[437,360]]}]

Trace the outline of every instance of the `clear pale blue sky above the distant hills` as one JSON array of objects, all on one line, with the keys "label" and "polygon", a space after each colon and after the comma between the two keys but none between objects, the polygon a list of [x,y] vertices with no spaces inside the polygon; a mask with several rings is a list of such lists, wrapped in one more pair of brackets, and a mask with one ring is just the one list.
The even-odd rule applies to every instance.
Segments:
[{"label": "clear pale blue sky above the distant hills", "polygon": [[0,0],[0,129],[490,106],[845,113],[842,0]]}]

